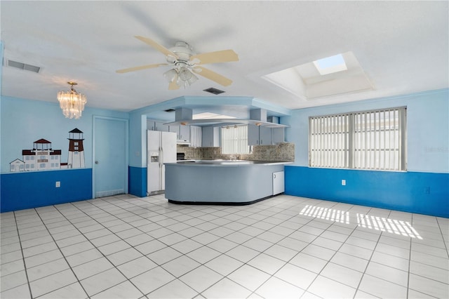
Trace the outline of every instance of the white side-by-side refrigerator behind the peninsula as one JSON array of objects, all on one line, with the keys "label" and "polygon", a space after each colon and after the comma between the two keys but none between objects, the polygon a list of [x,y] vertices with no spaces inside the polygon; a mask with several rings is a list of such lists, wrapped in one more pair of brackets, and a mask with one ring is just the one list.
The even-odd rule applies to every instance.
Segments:
[{"label": "white side-by-side refrigerator behind the peninsula", "polygon": [[147,131],[147,195],[165,191],[164,163],[176,163],[176,133]]}]

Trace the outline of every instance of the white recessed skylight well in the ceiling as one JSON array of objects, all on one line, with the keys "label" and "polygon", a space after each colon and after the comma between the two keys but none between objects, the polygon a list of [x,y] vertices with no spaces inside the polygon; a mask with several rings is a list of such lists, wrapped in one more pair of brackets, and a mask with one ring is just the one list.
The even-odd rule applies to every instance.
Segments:
[{"label": "white recessed skylight well in the ceiling", "polygon": [[320,68],[319,60],[315,60],[266,74],[262,78],[304,100],[373,90],[373,84],[354,53],[349,51],[339,55],[344,59],[343,63]]}]

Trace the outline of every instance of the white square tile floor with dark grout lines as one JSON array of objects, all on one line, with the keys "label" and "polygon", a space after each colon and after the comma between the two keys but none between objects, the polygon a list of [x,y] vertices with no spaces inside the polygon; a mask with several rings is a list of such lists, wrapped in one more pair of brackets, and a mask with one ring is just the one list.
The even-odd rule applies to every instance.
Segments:
[{"label": "white square tile floor with dark grout lines", "polygon": [[280,195],[1,214],[1,298],[448,298],[449,219]]}]

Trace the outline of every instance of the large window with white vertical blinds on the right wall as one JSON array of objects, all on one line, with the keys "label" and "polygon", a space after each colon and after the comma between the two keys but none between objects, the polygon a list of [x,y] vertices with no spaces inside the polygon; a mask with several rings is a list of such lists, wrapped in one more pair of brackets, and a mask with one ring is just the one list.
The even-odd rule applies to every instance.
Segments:
[{"label": "large window with white vertical blinds on the right wall", "polygon": [[309,117],[309,166],[406,170],[406,107]]}]

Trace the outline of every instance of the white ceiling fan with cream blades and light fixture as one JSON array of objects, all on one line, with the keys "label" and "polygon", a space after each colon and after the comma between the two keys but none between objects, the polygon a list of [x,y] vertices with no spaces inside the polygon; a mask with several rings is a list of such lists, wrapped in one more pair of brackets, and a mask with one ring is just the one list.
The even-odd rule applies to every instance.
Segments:
[{"label": "white ceiling fan with cream blades and light fixture", "polygon": [[168,49],[147,37],[135,36],[135,38],[140,39],[144,43],[149,44],[149,46],[152,46],[156,50],[165,54],[168,63],[141,65],[139,67],[119,69],[116,71],[117,73],[121,74],[126,72],[134,72],[141,69],[151,69],[154,67],[171,65],[173,68],[163,73],[163,76],[168,80],[169,90],[178,89],[181,85],[185,87],[192,85],[196,80],[198,80],[198,77],[196,77],[195,74],[199,74],[202,77],[215,81],[217,84],[221,84],[222,86],[229,86],[232,84],[231,79],[201,66],[209,63],[239,61],[239,56],[232,50],[196,54],[194,53],[193,48],[185,41],[177,41],[173,48]]}]

